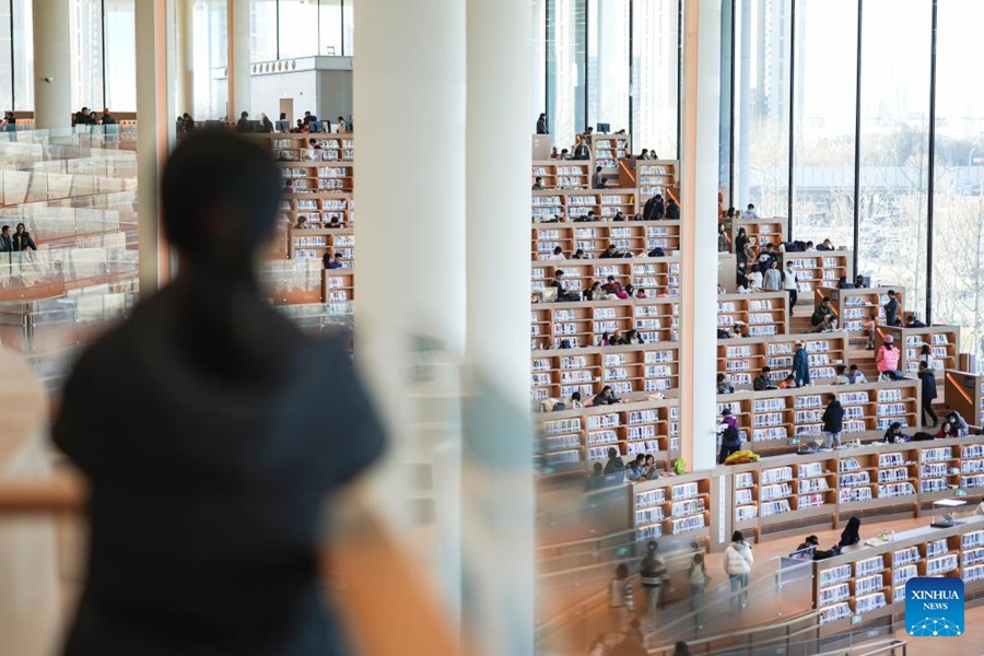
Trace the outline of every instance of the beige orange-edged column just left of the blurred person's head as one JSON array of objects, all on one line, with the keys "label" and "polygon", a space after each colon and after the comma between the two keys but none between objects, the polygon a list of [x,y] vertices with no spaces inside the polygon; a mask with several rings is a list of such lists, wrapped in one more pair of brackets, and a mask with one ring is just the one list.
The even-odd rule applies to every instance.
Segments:
[{"label": "beige orange-edged column just left of the blurred person's head", "polygon": [[159,179],[168,147],[174,139],[174,122],[168,106],[174,71],[167,58],[167,0],[140,0],[136,3],[137,43],[137,206],[140,239],[140,294],[157,291],[171,273],[167,245],[159,212]]}]

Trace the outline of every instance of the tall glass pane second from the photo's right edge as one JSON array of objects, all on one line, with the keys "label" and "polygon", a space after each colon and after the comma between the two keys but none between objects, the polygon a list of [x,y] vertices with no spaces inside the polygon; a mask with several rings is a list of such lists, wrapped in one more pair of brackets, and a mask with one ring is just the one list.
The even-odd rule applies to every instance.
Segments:
[{"label": "tall glass pane second from the photo's right edge", "polygon": [[[929,147],[928,0],[864,4],[860,272],[925,306]],[[833,71],[836,74],[836,71]]]}]

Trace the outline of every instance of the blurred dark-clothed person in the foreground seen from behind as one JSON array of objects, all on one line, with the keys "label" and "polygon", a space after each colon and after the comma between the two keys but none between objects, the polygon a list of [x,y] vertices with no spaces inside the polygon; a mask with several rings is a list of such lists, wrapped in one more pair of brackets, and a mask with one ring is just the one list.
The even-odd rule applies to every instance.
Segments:
[{"label": "blurred dark-clothed person in the foreground seen from behind", "polygon": [[65,653],[344,653],[319,520],[382,450],[380,424],[343,336],[312,341],[263,300],[281,192],[269,153],[192,133],[161,191],[179,273],[82,355],[55,430],[91,483]]}]

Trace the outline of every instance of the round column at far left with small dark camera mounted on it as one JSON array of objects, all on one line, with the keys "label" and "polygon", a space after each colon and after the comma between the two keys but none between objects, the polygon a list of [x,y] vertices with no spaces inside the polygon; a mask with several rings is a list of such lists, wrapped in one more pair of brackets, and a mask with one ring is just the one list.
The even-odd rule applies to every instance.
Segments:
[{"label": "round column at far left with small dark camera mounted on it", "polygon": [[34,0],[34,126],[72,125],[71,5]]}]

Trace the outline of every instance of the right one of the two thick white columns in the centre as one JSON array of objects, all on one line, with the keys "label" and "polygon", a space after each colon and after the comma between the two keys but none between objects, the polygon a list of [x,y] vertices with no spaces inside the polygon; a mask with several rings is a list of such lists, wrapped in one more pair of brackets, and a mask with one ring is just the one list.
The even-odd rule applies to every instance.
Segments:
[{"label": "right one of the two thick white columns in the centre", "polygon": [[467,576],[476,585],[466,637],[476,652],[517,656],[534,647],[531,58],[528,0],[468,1],[467,361],[475,387],[465,406],[462,480],[464,543],[476,563]]}]

